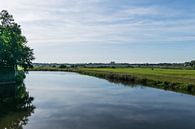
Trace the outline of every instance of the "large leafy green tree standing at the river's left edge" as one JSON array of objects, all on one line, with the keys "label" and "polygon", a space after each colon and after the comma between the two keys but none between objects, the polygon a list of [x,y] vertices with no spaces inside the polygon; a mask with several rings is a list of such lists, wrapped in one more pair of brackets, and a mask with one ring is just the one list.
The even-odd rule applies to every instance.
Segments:
[{"label": "large leafy green tree standing at the river's left edge", "polygon": [[20,25],[6,10],[0,13],[0,66],[17,70],[20,66],[26,71],[32,67],[33,49],[28,47]]}]

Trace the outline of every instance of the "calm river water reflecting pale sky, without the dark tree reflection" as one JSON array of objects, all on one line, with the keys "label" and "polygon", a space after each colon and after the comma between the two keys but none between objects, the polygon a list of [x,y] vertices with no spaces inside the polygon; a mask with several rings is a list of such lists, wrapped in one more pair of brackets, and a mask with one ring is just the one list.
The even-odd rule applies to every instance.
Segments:
[{"label": "calm river water reflecting pale sky, without the dark tree reflection", "polygon": [[67,72],[30,72],[24,129],[195,129],[195,96]]}]

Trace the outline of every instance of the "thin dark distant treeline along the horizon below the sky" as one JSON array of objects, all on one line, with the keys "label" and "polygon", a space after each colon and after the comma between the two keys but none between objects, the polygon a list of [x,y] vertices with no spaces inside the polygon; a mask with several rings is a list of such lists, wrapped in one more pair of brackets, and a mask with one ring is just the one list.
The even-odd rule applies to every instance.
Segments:
[{"label": "thin dark distant treeline along the horizon below the sky", "polygon": [[143,63],[143,64],[130,64],[130,63],[77,63],[77,64],[68,64],[68,63],[33,63],[35,67],[59,67],[59,68],[137,68],[137,67],[151,67],[151,68],[175,68],[175,69],[195,69],[195,61],[185,62],[185,63]]}]

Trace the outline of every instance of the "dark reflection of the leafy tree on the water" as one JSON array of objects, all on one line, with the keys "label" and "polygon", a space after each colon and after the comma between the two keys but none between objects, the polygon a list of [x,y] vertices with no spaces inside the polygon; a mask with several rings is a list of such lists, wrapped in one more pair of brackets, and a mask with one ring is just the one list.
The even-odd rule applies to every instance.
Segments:
[{"label": "dark reflection of the leafy tree on the water", "polygon": [[24,83],[0,85],[0,128],[22,129],[34,113],[33,99]]}]

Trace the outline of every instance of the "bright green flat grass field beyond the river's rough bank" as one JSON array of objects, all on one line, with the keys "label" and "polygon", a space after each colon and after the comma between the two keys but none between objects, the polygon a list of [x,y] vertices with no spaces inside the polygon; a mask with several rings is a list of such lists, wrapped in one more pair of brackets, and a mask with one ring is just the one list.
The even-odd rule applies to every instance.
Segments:
[{"label": "bright green flat grass field beyond the river's rough bank", "polygon": [[83,71],[127,74],[140,79],[195,85],[195,70],[161,68],[80,68]]}]

